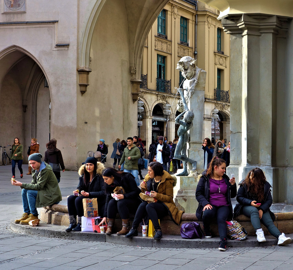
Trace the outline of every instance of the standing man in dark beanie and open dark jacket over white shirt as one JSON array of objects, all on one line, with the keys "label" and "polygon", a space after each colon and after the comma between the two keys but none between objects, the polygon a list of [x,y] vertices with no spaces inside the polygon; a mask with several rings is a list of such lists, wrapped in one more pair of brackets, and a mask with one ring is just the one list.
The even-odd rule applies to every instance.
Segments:
[{"label": "standing man in dark beanie and open dark jacket over white shirt", "polygon": [[[149,162],[157,161],[163,165],[165,171],[167,171],[167,163],[170,157],[170,147],[164,142],[164,137],[160,136],[158,142],[154,145],[149,155]],[[154,158],[156,160],[154,160]]]}]

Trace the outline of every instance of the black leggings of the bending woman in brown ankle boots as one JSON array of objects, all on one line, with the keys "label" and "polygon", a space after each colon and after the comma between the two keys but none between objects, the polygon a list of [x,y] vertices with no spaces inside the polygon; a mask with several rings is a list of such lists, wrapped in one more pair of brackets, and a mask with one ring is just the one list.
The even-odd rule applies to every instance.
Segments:
[{"label": "black leggings of the bending woman in brown ankle boots", "polygon": [[119,213],[121,219],[128,219],[129,213],[135,214],[140,203],[141,201],[138,198],[118,201],[111,199],[108,203],[107,216],[115,219],[117,213]]}]

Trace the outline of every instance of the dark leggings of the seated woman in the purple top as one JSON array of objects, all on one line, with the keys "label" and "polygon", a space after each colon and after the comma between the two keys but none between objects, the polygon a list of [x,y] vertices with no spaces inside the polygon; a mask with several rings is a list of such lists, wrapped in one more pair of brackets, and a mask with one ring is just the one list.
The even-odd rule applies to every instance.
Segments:
[{"label": "dark leggings of the seated woman in the purple top", "polygon": [[212,219],[217,217],[218,229],[220,237],[227,237],[226,220],[230,213],[229,206],[214,206],[212,209],[206,209],[202,214],[203,226],[208,228]]}]

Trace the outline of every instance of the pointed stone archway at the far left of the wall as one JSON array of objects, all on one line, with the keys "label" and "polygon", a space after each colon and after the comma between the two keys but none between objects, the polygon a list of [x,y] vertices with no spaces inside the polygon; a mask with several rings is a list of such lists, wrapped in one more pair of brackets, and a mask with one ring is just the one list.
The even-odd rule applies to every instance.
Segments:
[{"label": "pointed stone archway at the far left of the wall", "polygon": [[[0,137],[4,143],[11,144],[10,137],[19,134],[24,153],[31,137],[43,138],[39,150],[42,153],[49,139],[51,92],[50,88],[41,86],[45,76],[40,62],[22,47],[11,45],[0,52]],[[47,82],[49,85],[49,80]],[[13,102],[7,104],[7,100]],[[44,122],[41,121],[43,112],[47,116]],[[23,156],[27,161],[26,154]]]}]

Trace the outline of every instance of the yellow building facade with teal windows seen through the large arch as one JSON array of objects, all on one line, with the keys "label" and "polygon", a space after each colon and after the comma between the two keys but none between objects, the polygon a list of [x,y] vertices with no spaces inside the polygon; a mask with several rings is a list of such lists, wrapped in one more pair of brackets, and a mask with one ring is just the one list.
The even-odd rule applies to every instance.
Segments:
[{"label": "yellow building facade with teal windows seen through the large arch", "polygon": [[[230,140],[230,35],[224,33],[217,17],[218,10],[202,2],[178,0],[169,1],[154,21],[144,44],[140,84],[144,112],[138,116],[147,150],[158,135],[168,140],[177,137],[176,93],[184,78],[176,67],[183,56],[194,57],[197,66],[207,72],[202,137],[214,136],[211,111],[216,107],[220,118],[217,138]],[[163,113],[166,103],[171,105],[168,116]]]}]

